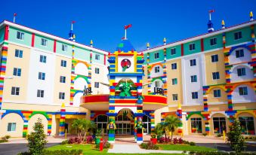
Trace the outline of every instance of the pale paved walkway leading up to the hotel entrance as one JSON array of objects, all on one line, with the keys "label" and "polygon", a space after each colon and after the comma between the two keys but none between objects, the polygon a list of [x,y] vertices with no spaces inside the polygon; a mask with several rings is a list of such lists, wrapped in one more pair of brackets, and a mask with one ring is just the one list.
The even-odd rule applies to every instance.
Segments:
[{"label": "pale paved walkway leading up to the hotel entrance", "polygon": [[182,153],[181,150],[145,150],[138,144],[113,144],[107,153]]}]

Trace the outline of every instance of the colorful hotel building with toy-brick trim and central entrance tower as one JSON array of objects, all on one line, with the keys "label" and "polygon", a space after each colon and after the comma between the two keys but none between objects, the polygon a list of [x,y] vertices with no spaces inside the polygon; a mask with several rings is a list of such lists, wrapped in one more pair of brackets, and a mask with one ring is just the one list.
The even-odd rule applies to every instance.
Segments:
[{"label": "colorful hotel building with toy-brick trim and central entrance tower", "polygon": [[[86,118],[116,134],[150,133],[168,115],[177,134],[256,129],[256,20],[136,52],[123,39],[112,53],[17,23],[0,24],[0,135],[24,137],[38,118],[48,135],[71,134]],[[86,89],[85,89],[86,88]],[[89,91],[91,88],[92,93]],[[127,91],[126,91],[127,90]],[[134,131],[139,121],[143,132]]]}]

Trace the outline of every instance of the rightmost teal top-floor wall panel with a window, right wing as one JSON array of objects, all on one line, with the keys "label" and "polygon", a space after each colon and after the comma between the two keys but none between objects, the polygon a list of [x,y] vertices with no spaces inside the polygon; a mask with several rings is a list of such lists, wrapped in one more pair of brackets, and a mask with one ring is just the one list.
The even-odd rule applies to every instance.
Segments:
[{"label": "rightmost teal top-floor wall panel with a window, right wing", "polygon": [[[240,31],[242,32],[242,38],[235,40],[234,33],[240,32]],[[226,45],[227,46],[230,46],[233,44],[239,44],[239,43],[246,42],[246,41],[251,41],[251,28],[249,26],[242,28],[242,29],[236,29],[234,31],[230,31],[230,32],[226,33]]]}]

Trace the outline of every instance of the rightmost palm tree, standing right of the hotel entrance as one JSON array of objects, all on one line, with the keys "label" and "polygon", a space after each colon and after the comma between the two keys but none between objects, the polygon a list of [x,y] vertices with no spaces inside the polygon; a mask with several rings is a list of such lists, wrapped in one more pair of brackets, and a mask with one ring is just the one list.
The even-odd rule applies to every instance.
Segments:
[{"label": "rightmost palm tree, standing right of the hotel entrance", "polygon": [[[170,131],[171,132],[171,141],[172,141],[172,137],[174,135],[174,131],[177,128],[179,123],[180,123],[180,120],[179,120],[178,117],[168,116],[168,117],[165,118],[165,122],[164,122],[165,131]],[[166,135],[165,135],[165,137],[166,137]]]}]

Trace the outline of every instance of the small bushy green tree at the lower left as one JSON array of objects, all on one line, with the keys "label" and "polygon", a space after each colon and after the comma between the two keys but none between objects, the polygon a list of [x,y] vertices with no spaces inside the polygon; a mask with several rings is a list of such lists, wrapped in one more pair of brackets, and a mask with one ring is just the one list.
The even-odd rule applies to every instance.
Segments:
[{"label": "small bushy green tree at the lower left", "polygon": [[39,155],[42,154],[42,150],[45,148],[45,144],[47,143],[42,119],[39,118],[39,120],[37,120],[33,129],[34,132],[30,132],[30,134],[27,135],[27,146],[29,147],[29,153]]}]

